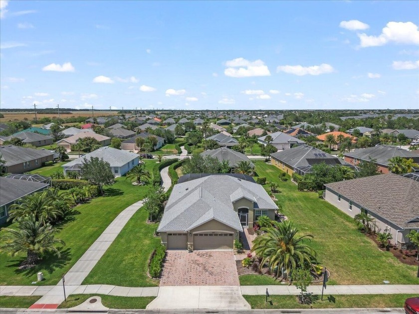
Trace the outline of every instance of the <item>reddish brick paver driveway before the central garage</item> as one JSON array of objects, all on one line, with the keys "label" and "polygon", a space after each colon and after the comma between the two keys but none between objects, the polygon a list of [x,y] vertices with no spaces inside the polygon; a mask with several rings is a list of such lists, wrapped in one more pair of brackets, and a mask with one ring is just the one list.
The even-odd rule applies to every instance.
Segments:
[{"label": "reddish brick paver driveway before the central garage", "polygon": [[167,251],[160,286],[239,286],[232,251]]}]

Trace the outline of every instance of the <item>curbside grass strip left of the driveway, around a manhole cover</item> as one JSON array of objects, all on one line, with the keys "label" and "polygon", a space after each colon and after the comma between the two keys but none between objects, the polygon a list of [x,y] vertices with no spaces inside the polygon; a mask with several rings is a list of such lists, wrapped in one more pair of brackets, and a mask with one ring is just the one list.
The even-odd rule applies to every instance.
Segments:
[{"label": "curbside grass strip left of the driveway, around a manhole cover", "polygon": [[100,297],[102,304],[110,309],[145,309],[156,297],[116,297],[107,295],[71,295],[67,301],[61,303],[58,309],[68,309],[83,303],[91,297]]}]

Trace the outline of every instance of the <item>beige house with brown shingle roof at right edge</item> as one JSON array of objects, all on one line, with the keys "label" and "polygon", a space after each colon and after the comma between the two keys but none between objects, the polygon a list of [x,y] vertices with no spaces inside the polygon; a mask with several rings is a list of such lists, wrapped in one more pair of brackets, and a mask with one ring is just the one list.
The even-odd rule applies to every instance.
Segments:
[{"label": "beige house with brown shingle roof at right edge", "polygon": [[419,230],[419,182],[387,173],[325,184],[325,199],[354,217],[365,212],[375,218],[373,229],[388,232],[406,248],[411,230]]}]

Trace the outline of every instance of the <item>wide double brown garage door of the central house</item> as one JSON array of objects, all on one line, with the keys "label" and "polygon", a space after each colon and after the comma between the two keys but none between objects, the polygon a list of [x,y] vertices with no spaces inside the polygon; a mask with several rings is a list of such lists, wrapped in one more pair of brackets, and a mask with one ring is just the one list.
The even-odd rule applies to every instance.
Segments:
[{"label": "wide double brown garage door of the central house", "polygon": [[232,233],[196,233],[194,234],[194,250],[232,250]]}]

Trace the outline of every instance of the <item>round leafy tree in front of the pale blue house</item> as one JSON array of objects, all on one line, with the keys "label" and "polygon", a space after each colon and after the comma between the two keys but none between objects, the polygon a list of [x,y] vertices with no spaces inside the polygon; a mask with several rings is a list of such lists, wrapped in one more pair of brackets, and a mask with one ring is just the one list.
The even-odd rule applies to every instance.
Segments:
[{"label": "round leafy tree in front of the pale blue house", "polygon": [[99,186],[99,191],[103,194],[104,185],[112,185],[114,183],[114,174],[111,170],[111,164],[103,158],[85,157],[81,165],[81,176],[86,178],[90,183]]}]

